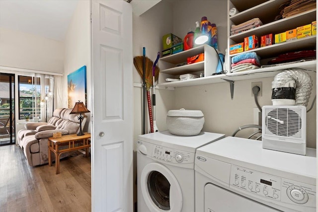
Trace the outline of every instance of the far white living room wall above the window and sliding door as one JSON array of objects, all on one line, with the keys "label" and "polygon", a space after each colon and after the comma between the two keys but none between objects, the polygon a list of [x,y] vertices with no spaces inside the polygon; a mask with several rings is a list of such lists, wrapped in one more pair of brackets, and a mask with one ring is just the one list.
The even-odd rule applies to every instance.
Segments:
[{"label": "far white living room wall above the window and sliding door", "polygon": [[0,66],[63,73],[63,42],[0,28]]}]

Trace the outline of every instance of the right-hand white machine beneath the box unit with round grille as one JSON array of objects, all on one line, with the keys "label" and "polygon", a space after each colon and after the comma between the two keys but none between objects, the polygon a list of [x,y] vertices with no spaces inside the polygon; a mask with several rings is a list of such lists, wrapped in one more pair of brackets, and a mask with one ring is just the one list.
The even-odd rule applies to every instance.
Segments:
[{"label": "right-hand white machine beneath the box unit with round grille", "polygon": [[307,155],[227,137],[196,151],[196,212],[316,212],[316,149]]}]

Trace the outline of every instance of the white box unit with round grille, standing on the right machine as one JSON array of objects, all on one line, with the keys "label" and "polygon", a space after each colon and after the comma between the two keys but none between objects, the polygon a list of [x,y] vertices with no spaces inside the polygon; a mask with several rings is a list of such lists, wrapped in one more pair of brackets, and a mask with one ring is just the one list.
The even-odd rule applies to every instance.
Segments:
[{"label": "white box unit with round grille, standing on the right machine", "polygon": [[263,148],[306,155],[306,107],[263,106]]}]

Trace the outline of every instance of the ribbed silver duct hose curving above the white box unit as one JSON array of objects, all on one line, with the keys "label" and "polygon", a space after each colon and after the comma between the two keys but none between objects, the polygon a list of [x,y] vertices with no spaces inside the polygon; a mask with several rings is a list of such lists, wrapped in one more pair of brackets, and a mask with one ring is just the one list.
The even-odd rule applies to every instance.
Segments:
[{"label": "ribbed silver duct hose curving above the white box unit", "polygon": [[295,105],[303,105],[306,107],[313,87],[312,77],[307,72],[298,68],[286,69],[276,74],[272,82],[273,93],[275,89],[293,86],[296,88]]}]

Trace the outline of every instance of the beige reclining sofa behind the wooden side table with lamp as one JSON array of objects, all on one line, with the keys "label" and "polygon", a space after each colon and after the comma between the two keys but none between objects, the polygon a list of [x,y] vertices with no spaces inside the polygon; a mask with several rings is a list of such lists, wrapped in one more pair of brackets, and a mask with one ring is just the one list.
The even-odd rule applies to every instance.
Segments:
[{"label": "beige reclining sofa behind the wooden side table with lamp", "polygon": [[[17,133],[18,145],[24,152],[30,166],[48,163],[48,138],[53,133],[61,132],[62,135],[77,134],[79,132],[79,114],[70,114],[72,108],[59,108],[53,112],[53,117],[46,122],[28,122],[23,130]],[[87,116],[82,120],[82,128],[85,126]],[[70,152],[63,153],[61,158],[68,156]],[[55,159],[52,154],[52,159]]]}]

